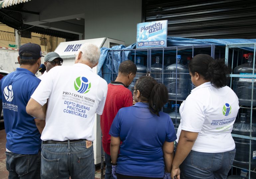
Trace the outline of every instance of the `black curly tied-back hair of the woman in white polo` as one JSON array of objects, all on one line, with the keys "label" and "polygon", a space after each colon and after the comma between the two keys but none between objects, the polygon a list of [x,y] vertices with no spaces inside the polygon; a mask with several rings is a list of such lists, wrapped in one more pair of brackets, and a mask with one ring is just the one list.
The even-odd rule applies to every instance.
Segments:
[{"label": "black curly tied-back hair of the woman in white polo", "polygon": [[202,75],[204,80],[209,80],[215,88],[228,84],[228,74],[231,68],[225,65],[224,59],[214,60],[210,55],[195,55],[189,63],[189,70],[194,76],[195,72]]}]

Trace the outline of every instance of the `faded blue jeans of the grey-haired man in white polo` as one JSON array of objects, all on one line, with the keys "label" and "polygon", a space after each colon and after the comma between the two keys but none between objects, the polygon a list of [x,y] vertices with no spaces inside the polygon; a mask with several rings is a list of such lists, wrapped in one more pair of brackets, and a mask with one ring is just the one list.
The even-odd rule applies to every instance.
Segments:
[{"label": "faded blue jeans of the grey-haired man in white polo", "polygon": [[68,144],[42,144],[42,179],[94,179],[93,146],[86,149],[86,142]]}]

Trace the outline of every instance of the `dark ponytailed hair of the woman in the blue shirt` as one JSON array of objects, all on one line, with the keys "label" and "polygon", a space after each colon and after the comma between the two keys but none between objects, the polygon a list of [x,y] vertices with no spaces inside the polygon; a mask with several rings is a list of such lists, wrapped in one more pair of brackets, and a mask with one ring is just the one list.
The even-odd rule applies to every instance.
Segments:
[{"label": "dark ponytailed hair of the woman in the blue shirt", "polygon": [[150,76],[142,76],[134,88],[140,91],[142,101],[149,101],[150,112],[159,116],[159,111],[168,101],[166,86]]}]

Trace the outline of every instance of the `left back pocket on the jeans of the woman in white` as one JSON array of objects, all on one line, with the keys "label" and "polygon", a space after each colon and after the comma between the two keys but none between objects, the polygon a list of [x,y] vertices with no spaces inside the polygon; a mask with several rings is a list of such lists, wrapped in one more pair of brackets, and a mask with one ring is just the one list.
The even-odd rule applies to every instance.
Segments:
[{"label": "left back pocket on the jeans of the woman in white", "polygon": [[200,170],[209,169],[212,167],[214,154],[191,150],[191,164]]}]

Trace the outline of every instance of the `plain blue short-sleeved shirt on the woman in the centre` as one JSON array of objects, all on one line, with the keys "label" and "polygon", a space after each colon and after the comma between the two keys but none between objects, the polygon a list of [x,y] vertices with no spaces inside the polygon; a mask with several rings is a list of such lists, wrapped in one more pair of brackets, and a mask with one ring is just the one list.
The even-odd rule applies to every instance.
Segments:
[{"label": "plain blue short-sleeved shirt on the woman in the centre", "polygon": [[109,134],[120,137],[122,144],[117,159],[117,173],[129,176],[164,176],[162,146],[177,139],[168,114],[152,114],[146,103],[121,108]]}]

